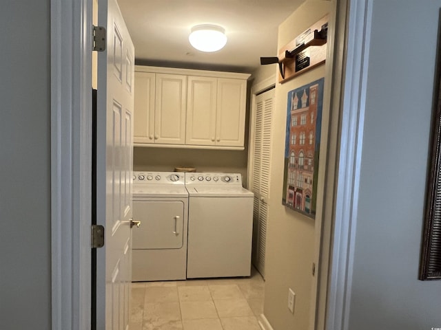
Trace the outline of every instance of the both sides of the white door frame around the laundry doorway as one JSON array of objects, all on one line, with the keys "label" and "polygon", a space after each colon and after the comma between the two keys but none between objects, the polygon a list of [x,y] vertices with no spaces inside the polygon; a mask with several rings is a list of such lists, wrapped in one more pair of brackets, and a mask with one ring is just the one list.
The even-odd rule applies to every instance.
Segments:
[{"label": "both sides of the white door frame around the laundry doorway", "polygon": [[[372,12],[372,0],[332,1],[343,39],[336,54],[344,72],[332,93],[343,143],[329,206],[333,245],[319,265],[329,263],[329,278],[320,280],[327,289],[319,293],[316,329],[349,326]],[[52,329],[80,330],[90,327],[92,1],[51,0],[50,5]]]}]

